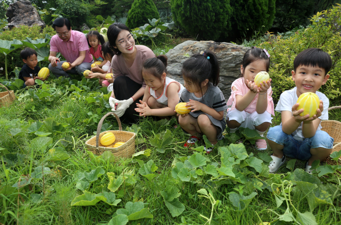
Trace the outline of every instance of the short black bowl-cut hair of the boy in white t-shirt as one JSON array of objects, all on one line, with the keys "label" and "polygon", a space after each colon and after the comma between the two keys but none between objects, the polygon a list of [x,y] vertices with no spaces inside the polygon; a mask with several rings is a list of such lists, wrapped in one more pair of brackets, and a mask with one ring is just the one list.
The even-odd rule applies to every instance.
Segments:
[{"label": "short black bowl-cut hair of the boy in white t-shirt", "polygon": [[[332,62],[330,55],[321,48],[308,48],[301,51],[294,60],[294,70],[299,66],[318,66],[323,68],[326,74],[331,68]],[[326,75],[324,74],[324,75]]]}]

